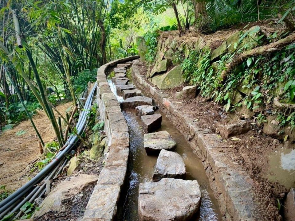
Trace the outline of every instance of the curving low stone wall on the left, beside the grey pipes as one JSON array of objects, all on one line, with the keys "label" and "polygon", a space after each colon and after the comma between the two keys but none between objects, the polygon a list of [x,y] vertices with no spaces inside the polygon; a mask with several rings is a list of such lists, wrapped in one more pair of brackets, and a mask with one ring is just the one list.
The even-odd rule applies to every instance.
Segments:
[{"label": "curving low stone wall on the left, beside the grey pipes", "polygon": [[116,220],[117,204],[125,181],[129,155],[129,133],[127,122],[121,112],[120,103],[106,81],[109,67],[139,56],[130,56],[111,61],[97,70],[97,101],[100,117],[108,138],[109,152],[96,186],[87,204],[82,220]]}]

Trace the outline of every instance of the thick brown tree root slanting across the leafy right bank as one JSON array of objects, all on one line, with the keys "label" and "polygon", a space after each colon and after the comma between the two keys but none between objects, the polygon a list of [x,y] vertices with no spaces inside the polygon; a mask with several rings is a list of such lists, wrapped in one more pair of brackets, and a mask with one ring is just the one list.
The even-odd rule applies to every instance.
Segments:
[{"label": "thick brown tree root slanting across the leafy right bank", "polygon": [[231,70],[235,68],[238,64],[242,63],[242,61],[245,60],[247,57],[258,56],[258,55],[265,54],[267,52],[280,50],[283,46],[288,45],[294,41],[295,41],[295,34],[291,34],[288,37],[285,37],[283,39],[280,39],[268,45],[263,45],[263,46],[242,52],[240,54],[237,54],[236,56],[234,56],[233,60],[230,63],[226,64],[225,70],[221,72],[220,77],[222,79],[222,82],[225,82],[227,75],[231,72]]}]

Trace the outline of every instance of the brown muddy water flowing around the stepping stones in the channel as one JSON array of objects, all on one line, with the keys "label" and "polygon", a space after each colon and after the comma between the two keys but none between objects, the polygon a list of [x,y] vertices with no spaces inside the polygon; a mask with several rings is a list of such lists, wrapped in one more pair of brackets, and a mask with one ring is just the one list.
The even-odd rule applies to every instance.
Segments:
[{"label": "brown muddy water flowing around the stepping stones in the channel", "polygon": [[[108,82],[112,91],[116,94],[115,85],[110,79]],[[117,95],[117,99],[119,101],[123,100],[120,95]],[[179,131],[172,125],[167,117],[159,110],[156,112],[162,114],[162,126],[157,131],[166,130],[169,134],[171,134],[171,137],[177,143],[175,152],[182,156],[186,165],[186,179],[197,180],[200,184],[200,189],[202,192],[201,206],[199,212],[191,220],[221,220],[222,215],[219,210],[217,200],[214,198],[213,192],[210,189],[209,181],[205,174],[202,162],[193,152],[183,135],[179,133]],[[142,182],[151,181],[157,156],[148,156],[144,150],[144,132],[141,127],[141,120],[136,116],[135,111],[125,111],[124,116],[129,128],[131,157],[128,162],[128,190],[126,201],[124,203],[123,220],[136,221],[139,220],[138,187]]]}]

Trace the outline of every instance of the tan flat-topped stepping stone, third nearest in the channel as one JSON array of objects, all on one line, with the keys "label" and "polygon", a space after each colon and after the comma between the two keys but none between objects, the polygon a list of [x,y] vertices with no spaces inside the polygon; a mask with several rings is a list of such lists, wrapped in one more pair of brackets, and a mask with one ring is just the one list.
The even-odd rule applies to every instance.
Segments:
[{"label": "tan flat-topped stepping stone, third nearest in the channel", "polygon": [[144,149],[147,153],[159,153],[162,149],[171,150],[175,146],[176,142],[166,130],[144,134]]}]

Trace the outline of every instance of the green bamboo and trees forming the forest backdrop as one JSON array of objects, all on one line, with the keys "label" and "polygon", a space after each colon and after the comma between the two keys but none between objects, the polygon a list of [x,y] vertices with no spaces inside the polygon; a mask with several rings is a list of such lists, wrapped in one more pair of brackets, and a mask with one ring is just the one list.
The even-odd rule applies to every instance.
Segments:
[{"label": "green bamboo and trees forming the forest backdrop", "polygon": [[137,54],[139,35],[153,45],[157,30],[210,34],[270,18],[294,30],[293,1],[2,0],[0,5],[2,130],[41,108],[60,145],[54,105],[63,99],[76,103],[95,79],[95,68]]}]

